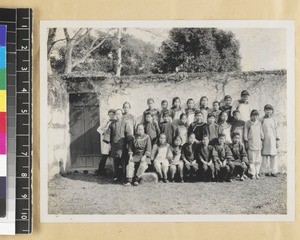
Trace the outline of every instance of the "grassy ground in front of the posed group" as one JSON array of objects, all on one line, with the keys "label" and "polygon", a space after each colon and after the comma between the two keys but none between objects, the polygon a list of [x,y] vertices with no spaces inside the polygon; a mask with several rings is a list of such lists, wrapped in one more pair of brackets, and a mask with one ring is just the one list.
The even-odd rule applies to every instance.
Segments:
[{"label": "grassy ground in front of the posed group", "polygon": [[231,183],[124,187],[66,174],[49,182],[49,214],[286,214],[286,175]]}]

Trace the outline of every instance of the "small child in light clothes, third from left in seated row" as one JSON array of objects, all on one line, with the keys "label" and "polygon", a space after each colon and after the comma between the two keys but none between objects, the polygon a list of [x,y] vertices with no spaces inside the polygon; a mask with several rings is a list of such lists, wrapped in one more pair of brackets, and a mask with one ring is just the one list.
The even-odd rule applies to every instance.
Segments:
[{"label": "small child in light clothes, third from left in seated row", "polygon": [[181,160],[181,145],[182,140],[180,136],[177,136],[174,140],[174,145],[172,149],[173,159],[170,161],[170,175],[171,182],[174,182],[174,177],[176,172],[179,173],[180,182],[183,183],[183,161]]}]

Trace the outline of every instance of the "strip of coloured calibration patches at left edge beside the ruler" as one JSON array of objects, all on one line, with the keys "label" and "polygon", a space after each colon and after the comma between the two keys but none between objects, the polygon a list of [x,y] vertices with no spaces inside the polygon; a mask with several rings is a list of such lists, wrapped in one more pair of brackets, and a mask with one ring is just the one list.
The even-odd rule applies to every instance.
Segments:
[{"label": "strip of coloured calibration patches at left edge beside the ruler", "polygon": [[6,26],[0,25],[0,217],[6,216],[7,124],[6,124]]}]

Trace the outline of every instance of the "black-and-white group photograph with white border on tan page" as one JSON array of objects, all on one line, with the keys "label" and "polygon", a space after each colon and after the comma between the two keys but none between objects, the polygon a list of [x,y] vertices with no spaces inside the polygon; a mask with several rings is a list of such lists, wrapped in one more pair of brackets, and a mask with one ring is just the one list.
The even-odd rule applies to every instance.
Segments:
[{"label": "black-and-white group photograph with white border on tan page", "polygon": [[294,217],[289,21],[41,22],[42,221]]}]

